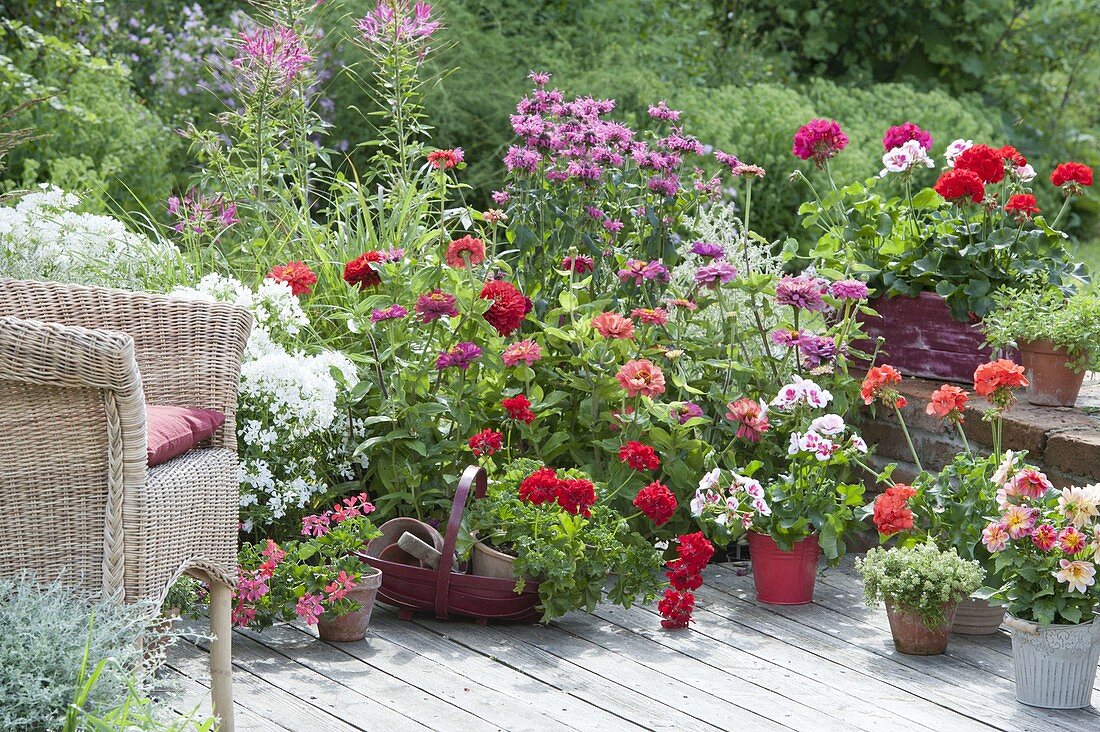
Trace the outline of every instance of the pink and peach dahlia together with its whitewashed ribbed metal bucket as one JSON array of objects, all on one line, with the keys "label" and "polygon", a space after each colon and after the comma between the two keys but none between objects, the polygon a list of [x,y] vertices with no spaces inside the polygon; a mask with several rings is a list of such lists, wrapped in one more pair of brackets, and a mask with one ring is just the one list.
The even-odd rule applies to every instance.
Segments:
[{"label": "pink and peach dahlia together with its whitewashed ribbed metal bucket", "polygon": [[1100,485],[1007,490],[983,531],[1008,610],[1016,699],[1046,709],[1088,707],[1100,659],[1096,583]]}]

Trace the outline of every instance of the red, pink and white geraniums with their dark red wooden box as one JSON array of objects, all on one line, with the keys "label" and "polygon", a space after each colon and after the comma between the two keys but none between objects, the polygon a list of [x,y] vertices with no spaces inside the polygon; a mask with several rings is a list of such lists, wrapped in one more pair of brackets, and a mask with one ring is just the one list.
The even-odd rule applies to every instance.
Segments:
[{"label": "red, pink and white geraniums with their dark red wooden box", "polygon": [[[805,139],[800,156],[826,173],[848,143],[833,125],[811,123],[795,138]],[[813,254],[834,269],[872,272],[878,297],[870,305],[881,318],[865,316],[865,328],[891,363],[908,375],[965,382],[990,357],[974,325],[993,308],[999,287],[1014,288],[1035,272],[1070,286],[1082,282],[1084,265],[1055,229],[1060,214],[1050,220],[1040,210],[1035,170],[1011,145],[956,140],[934,183],[928,131],[906,122],[890,128],[882,146],[883,168],[865,182],[838,187],[828,175],[820,188],[803,176],[814,193],[800,208],[803,225],[822,232]],[[1050,183],[1068,203],[1092,175],[1070,163]]]}]

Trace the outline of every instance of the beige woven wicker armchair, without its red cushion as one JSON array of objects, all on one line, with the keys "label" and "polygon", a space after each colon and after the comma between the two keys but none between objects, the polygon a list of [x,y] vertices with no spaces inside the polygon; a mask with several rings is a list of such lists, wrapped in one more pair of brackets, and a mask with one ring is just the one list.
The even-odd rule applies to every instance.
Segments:
[{"label": "beige woven wicker armchair, without its red cushion", "polygon": [[[0,278],[0,575],[160,602],[210,583],[211,691],[233,729],[237,389],[251,315],[224,303]],[[210,440],[146,467],[145,402],[218,409]]]}]

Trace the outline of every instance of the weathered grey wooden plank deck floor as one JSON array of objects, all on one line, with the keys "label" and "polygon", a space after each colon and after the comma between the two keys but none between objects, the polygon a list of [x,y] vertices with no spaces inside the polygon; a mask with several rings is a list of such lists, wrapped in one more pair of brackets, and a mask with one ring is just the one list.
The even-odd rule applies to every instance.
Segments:
[{"label": "weathered grey wooden plank deck floor", "polygon": [[[751,577],[713,566],[695,619],[669,632],[654,608],[607,608],[481,626],[376,608],[360,643],[297,626],[238,633],[238,729],[1100,730],[1096,707],[1015,701],[1005,634],[955,635],[944,656],[895,653],[850,569],[821,576],[814,604],[776,608],[756,602]],[[180,643],[169,658],[176,706],[209,709],[201,647]]]}]

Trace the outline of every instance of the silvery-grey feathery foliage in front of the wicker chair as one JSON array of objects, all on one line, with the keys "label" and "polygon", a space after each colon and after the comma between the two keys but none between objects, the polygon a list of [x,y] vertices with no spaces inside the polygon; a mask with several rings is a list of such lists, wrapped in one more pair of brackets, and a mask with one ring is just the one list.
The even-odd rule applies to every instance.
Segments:
[{"label": "silvery-grey feathery foliage in front of the wicker chair", "polygon": [[101,713],[123,703],[131,670],[143,663],[140,643],[147,640],[150,615],[145,604],[89,604],[57,581],[0,580],[0,729],[59,728],[86,681],[81,669],[108,658],[84,709]]}]

